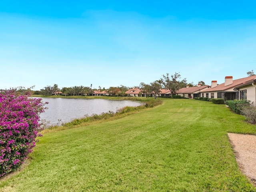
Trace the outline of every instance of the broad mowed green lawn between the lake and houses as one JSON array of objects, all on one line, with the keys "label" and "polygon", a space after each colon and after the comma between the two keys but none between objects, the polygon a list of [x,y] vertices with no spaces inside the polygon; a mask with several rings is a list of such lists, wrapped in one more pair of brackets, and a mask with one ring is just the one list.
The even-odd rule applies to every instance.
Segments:
[{"label": "broad mowed green lawn between the lake and houses", "polygon": [[44,134],[31,162],[2,191],[256,191],[240,172],[227,132],[256,126],[212,102],[164,104],[101,124]]}]

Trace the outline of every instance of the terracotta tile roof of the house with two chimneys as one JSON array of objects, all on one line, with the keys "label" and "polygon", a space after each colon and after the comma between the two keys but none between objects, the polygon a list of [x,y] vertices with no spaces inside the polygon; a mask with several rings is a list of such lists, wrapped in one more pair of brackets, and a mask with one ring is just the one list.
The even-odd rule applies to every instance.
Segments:
[{"label": "terracotta tile roof of the house with two chimneys", "polygon": [[[231,77],[231,76],[227,76],[227,77]],[[241,79],[236,79],[236,80],[233,80],[233,83],[230,84],[230,85],[225,86],[225,83],[222,83],[222,84],[217,85],[214,88],[209,88],[209,89],[203,90],[201,92],[225,91],[225,90],[228,90],[230,88],[235,88],[236,86],[239,86],[241,84],[245,84],[247,82],[250,82],[250,81],[254,80],[254,78],[256,78],[256,75],[245,77],[245,78],[241,78]]]}]

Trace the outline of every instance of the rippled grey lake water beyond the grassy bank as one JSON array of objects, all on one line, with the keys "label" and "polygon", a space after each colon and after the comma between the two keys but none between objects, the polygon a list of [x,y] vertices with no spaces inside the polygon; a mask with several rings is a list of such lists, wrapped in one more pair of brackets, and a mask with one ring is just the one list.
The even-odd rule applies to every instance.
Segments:
[{"label": "rippled grey lake water beyond the grassy bank", "polygon": [[140,106],[139,102],[119,101],[105,99],[70,99],[70,98],[42,98],[48,109],[40,114],[41,120],[49,124],[70,122],[74,118],[82,118],[85,115],[101,114],[109,111],[116,112],[125,106]]}]

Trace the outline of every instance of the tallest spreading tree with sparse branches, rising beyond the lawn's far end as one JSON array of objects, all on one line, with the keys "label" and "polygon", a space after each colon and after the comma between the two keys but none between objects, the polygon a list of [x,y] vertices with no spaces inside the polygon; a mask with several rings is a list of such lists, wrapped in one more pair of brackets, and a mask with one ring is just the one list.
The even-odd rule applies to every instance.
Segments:
[{"label": "tallest spreading tree with sparse branches, rising beyond the lawn's far end", "polygon": [[158,82],[163,85],[165,89],[170,90],[171,96],[176,93],[177,90],[179,90],[182,87],[185,87],[187,84],[186,78],[183,80],[180,80],[180,73],[175,72],[174,75],[171,75],[169,77],[169,74],[166,73],[165,75],[162,75],[163,78],[160,78]]}]

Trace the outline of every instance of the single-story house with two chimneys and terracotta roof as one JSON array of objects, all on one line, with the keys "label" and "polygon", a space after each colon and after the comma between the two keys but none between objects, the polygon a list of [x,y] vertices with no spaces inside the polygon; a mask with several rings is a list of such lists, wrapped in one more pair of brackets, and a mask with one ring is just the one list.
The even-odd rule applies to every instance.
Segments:
[{"label": "single-story house with two chimneys and terracotta roof", "polygon": [[200,91],[201,97],[222,98],[224,101],[239,99],[239,93],[237,90],[234,90],[234,88],[246,84],[254,80],[254,78],[256,78],[256,75],[236,80],[233,80],[233,76],[226,76],[225,82],[219,85],[217,84],[217,81],[212,81],[211,88]]}]

